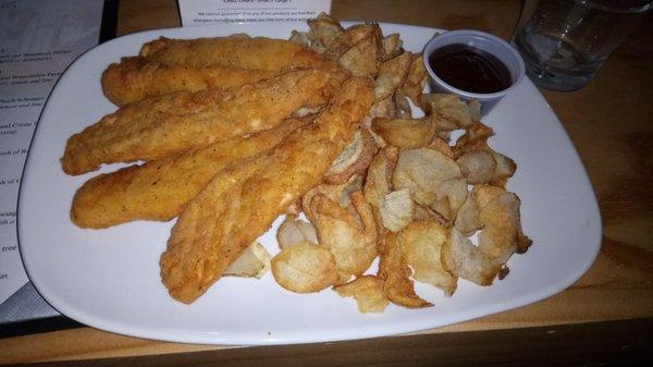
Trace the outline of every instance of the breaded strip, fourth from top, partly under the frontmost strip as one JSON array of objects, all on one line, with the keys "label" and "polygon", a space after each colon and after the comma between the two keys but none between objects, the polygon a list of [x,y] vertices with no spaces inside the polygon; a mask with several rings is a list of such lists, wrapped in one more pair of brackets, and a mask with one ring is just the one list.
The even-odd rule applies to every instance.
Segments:
[{"label": "breaded strip, fourth from top, partly under the frontmost strip", "polygon": [[247,137],[93,178],[75,194],[71,219],[81,228],[95,229],[141,219],[171,220],[221,169],[271,149],[313,118],[288,119]]}]

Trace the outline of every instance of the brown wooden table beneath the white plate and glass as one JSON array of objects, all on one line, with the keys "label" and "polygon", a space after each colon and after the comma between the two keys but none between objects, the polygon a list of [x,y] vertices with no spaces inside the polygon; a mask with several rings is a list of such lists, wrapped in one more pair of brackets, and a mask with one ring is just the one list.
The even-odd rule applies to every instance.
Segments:
[{"label": "brown wooden table beneath the white plate and glass", "polygon": [[[340,20],[478,28],[509,38],[521,1],[333,1]],[[0,340],[8,362],[97,365],[597,364],[653,358],[653,34],[646,14],[594,81],[576,93],[543,90],[587,167],[603,218],[591,269],[542,302],[421,333],[275,347],[185,345],[79,328]],[[174,0],[120,3],[118,34],[180,26]],[[544,357],[545,356],[545,357]],[[127,357],[119,358],[115,357]]]}]

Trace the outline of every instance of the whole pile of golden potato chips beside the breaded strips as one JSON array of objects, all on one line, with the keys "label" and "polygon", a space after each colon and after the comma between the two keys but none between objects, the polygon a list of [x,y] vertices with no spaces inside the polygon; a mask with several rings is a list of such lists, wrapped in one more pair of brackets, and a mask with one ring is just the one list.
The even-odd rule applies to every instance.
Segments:
[{"label": "whole pile of golden potato chips beside the breaded strips", "polygon": [[[519,198],[505,189],[517,166],[488,145],[480,105],[422,94],[421,54],[405,51],[398,34],[384,37],[377,24],[345,29],[325,14],[308,24],[291,40],[373,77],[375,103],[323,183],[288,210],[271,259],[275,281],[297,293],[332,286],[361,313],[382,313],[390,302],[431,306],[414,281],[451,296],[458,278],[503,279],[508,258],[531,241]],[[414,118],[411,102],[426,115]],[[454,131],[464,133],[451,142]]]}]

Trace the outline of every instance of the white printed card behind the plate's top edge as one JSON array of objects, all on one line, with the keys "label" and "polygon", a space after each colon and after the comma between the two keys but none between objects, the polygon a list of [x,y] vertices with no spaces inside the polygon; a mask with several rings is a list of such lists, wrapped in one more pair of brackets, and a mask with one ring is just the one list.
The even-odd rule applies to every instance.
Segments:
[{"label": "white printed card behind the plate's top edge", "polygon": [[178,0],[182,25],[296,22],[329,13],[331,0]]}]

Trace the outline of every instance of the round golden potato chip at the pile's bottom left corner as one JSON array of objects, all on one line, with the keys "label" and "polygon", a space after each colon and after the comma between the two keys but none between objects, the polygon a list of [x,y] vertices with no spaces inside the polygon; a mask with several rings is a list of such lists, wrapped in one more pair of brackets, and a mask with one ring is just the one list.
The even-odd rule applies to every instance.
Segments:
[{"label": "round golden potato chip at the pile's bottom left corner", "polygon": [[338,280],[335,259],[329,248],[303,242],[281,250],[271,261],[279,285],[296,293],[312,293]]}]

